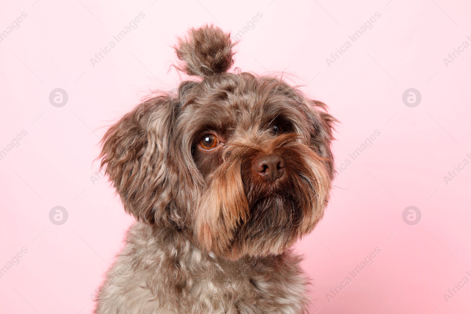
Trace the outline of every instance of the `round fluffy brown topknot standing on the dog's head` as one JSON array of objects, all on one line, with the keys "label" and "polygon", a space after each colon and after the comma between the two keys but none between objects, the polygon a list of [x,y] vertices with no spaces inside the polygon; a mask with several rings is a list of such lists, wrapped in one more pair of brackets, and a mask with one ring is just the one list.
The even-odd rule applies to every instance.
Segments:
[{"label": "round fluffy brown topknot standing on the dog's head", "polygon": [[177,57],[182,61],[178,69],[188,75],[207,77],[226,72],[234,64],[234,47],[230,33],[219,27],[204,25],[192,28],[185,38],[178,38],[175,47]]}]

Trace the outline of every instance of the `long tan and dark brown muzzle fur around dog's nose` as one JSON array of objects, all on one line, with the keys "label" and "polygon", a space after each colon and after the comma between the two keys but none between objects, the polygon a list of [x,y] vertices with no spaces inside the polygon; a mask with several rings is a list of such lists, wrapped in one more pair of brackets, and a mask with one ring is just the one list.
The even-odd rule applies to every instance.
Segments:
[{"label": "long tan and dark brown muzzle fur around dog's nose", "polygon": [[274,182],[251,169],[254,158],[264,154],[260,148],[227,147],[195,213],[203,248],[232,259],[281,254],[322,218],[330,187],[326,159],[289,135],[268,146],[285,163],[284,175]]}]

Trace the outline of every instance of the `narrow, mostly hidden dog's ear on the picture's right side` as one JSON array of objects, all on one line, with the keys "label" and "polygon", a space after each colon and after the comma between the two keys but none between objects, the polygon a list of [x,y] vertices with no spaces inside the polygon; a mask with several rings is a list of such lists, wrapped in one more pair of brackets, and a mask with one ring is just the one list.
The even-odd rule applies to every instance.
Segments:
[{"label": "narrow, mostly hidden dog's ear on the picture's right side", "polygon": [[329,171],[329,177],[333,180],[335,166],[333,161],[331,144],[334,140],[333,131],[335,123],[338,122],[332,115],[327,113],[327,105],[323,102],[311,99],[305,99],[306,115],[311,122],[311,143],[317,150],[317,153],[325,158],[325,166]]}]

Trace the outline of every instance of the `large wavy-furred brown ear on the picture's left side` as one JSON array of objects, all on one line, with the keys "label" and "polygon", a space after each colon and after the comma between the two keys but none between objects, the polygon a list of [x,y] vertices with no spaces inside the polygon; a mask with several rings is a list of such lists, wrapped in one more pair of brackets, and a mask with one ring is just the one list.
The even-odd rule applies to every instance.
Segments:
[{"label": "large wavy-furred brown ear on the picture's left side", "polygon": [[166,178],[177,103],[168,95],[149,99],[111,126],[102,139],[101,167],[126,212],[139,221],[171,220],[172,192]]}]

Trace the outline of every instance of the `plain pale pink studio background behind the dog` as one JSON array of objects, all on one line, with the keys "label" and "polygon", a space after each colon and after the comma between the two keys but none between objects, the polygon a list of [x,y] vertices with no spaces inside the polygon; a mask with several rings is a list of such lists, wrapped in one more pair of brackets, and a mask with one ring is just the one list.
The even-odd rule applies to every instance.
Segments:
[{"label": "plain pale pink studio background behind the dog", "polygon": [[[176,35],[207,22],[244,32],[258,12],[235,65],[293,73],[293,84],[328,104],[341,121],[337,166],[381,132],[339,172],[324,219],[297,245],[312,281],[310,313],[468,313],[471,283],[448,300],[444,293],[471,280],[471,165],[448,184],[444,176],[471,161],[471,48],[443,60],[471,43],[468,1],[35,1],[0,10],[0,32],[27,14],[0,42],[0,150],[27,132],[0,160],[0,267],[27,250],[0,278],[0,313],[92,312],[90,294],[133,222],[106,178],[90,179],[98,139],[150,90],[177,86]],[[139,12],[138,27],[92,66]],[[375,12],[373,28],[352,43]],[[56,88],[69,97],[60,108],[49,103]],[[422,95],[413,108],[402,101],[409,88]],[[49,221],[54,206],[67,210],[64,225]],[[422,213],[417,225],[402,219],[408,206]],[[352,279],[375,248],[374,263]]]}]

